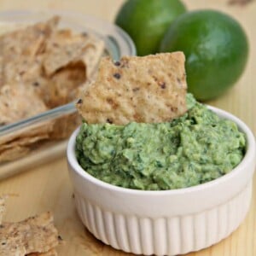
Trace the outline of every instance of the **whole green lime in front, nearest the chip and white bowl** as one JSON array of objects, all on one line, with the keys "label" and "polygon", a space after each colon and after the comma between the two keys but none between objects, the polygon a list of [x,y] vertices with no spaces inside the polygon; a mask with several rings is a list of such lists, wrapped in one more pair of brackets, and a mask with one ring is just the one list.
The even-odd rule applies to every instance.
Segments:
[{"label": "whole green lime in front, nearest the chip and white bowl", "polygon": [[198,10],[180,15],[168,28],[160,52],[186,55],[189,91],[205,101],[224,93],[247,63],[247,36],[239,23],[219,11]]}]

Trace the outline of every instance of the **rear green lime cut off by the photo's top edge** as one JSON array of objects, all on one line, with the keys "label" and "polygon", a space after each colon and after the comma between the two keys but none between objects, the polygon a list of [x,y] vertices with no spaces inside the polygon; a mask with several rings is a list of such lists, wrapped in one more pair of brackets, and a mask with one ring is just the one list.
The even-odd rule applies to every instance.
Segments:
[{"label": "rear green lime cut off by the photo's top edge", "polygon": [[131,36],[137,55],[154,54],[166,29],[185,11],[179,0],[128,0],[119,9],[115,23]]}]

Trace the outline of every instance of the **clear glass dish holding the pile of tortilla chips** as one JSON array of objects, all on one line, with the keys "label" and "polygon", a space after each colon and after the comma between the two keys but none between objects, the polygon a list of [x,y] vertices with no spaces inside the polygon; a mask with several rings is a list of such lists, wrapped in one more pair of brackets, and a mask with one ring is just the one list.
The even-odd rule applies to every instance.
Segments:
[{"label": "clear glass dish holding the pile of tortilla chips", "polygon": [[[113,60],[119,60],[122,55],[136,55],[135,45],[122,29],[106,20],[99,20],[90,15],[64,11],[5,11],[0,12],[0,23],[2,26],[3,24],[26,26],[48,20],[54,15],[61,16],[59,28],[70,28],[74,32],[89,32],[97,38],[102,38],[105,43],[105,54],[110,55]],[[9,30],[8,26],[7,30]],[[69,102],[31,118],[0,126],[0,140],[4,141],[22,137],[24,132],[27,133],[40,125],[47,125],[49,122],[60,124],[63,122],[61,129],[68,130],[64,132],[67,134],[64,138],[38,142],[30,148],[29,152],[18,159],[4,162],[0,160],[0,178],[9,177],[27,169],[28,166],[37,166],[63,155],[67,146],[67,137],[73,131],[72,121],[75,116],[77,116],[77,111],[74,102]],[[69,123],[68,120],[70,120]],[[0,154],[2,150],[0,143]]]}]

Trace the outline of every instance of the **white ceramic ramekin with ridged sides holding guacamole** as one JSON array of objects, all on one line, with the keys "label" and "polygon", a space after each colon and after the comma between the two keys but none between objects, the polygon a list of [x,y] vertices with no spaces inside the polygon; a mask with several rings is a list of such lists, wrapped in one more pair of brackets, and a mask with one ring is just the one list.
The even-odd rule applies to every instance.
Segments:
[{"label": "white ceramic ramekin with ridged sides holding guacamole", "polygon": [[67,162],[75,203],[79,217],[96,238],[125,252],[177,255],[209,247],[236,230],[250,206],[255,140],[240,119],[211,109],[235,121],[246,134],[247,153],[232,172],[186,189],[124,189],[90,176],[76,160],[79,129],[73,132]]}]

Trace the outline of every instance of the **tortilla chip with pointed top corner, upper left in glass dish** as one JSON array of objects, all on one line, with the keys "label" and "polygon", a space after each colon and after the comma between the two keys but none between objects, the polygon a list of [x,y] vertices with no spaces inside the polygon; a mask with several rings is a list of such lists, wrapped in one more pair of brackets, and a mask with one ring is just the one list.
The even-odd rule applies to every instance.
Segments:
[{"label": "tortilla chip with pointed top corner, upper left in glass dish", "polygon": [[0,37],[2,61],[0,84],[26,83],[42,72],[42,57],[47,39],[55,31],[59,17],[26,26]]}]

